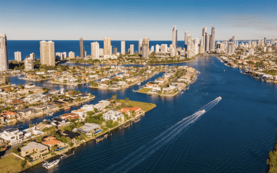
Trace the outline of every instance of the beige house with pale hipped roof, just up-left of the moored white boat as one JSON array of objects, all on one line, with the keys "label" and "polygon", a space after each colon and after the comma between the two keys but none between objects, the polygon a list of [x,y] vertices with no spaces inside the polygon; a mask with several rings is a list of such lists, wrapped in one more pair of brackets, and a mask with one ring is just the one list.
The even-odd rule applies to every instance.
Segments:
[{"label": "beige house with pale hipped roof, just up-left of the moored white boat", "polygon": [[35,161],[37,158],[44,158],[49,150],[46,145],[36,142],[30,142],[26,146],[21,147],[21,156],[30,156]]}]

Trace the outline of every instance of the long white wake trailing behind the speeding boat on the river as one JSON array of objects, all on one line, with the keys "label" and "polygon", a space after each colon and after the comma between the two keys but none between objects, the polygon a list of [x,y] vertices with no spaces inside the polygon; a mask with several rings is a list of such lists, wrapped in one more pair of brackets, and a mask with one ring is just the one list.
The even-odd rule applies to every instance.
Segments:
[{"label": "long white wake trailing behind the speeding boat on the river", "polygon": [[[186,131],[188,127],[190,125],[193,125],[193,123],[195,123],[204,113],[215,107],[215,105],[220,102],[221,99],[221,97],[218,97],[215,100],[204,105],[204,107],[200,108],[192,116],[188,116],[183,120],[177,122],[175,125],[172,125],[168,129],[166,129],[166,131],[163,131],[163,133],[161,133],[159,136],[150,140],[149,143],[141,146],[139,149],[136,149],[136,151],[123,158],[123,160],[121,160],[120,162],[107,167],[104,172],[111,172],[111,169],[117,167],[118,165],[118,169],[113,169],[114,172],[128,172],[136,165],[139,165],[141,162],[143,162],[151,154],[156,152],[160,147],[162,147],[166,143],[169,143],[170,140],[175,138],[175,136],[177,136],[181,132]],[[131,156],[134,156],[134,158],[130,158]]]}]

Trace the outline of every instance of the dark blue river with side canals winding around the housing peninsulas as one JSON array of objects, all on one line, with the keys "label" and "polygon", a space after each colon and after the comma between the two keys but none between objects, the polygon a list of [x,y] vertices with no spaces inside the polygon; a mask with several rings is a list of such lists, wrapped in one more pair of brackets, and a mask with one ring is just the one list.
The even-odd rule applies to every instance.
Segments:
[{"label": "dark blue river with side canals winding around the housing peninsulas", "polygon": [[[277,85],[244,75],[214,56],[179,65],[192,66],[200,74],[190,89],[174,97],[132,92],[139,86],[120,91],[68,86],[96,95],[91,104],[117,94],[120,99],[152,102],[157,107],[110,138],[76,148],[73,156],[52,170],[40,164],[25,172],[265,172],[268,153],[276,140]],[[25,83],[15,77],[10,82]],[[43,83],[35,82],[39,86]],[[210,111],[175,133],[178,122],[219,96],[222,100]],[[174,138],[168,137],[171,130]],[[153,141],[159,142],[159,148],[141,151]]]}]

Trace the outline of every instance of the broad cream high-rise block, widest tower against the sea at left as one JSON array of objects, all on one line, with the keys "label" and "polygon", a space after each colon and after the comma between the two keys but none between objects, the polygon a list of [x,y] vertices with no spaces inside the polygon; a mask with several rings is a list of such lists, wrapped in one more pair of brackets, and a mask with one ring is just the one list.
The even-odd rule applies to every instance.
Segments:
[{"label": "broad cream high-rise block, widest tower against the sea at left", "polygon": [[55,43],[42,41],[40,44],[40,63],[47,66],[55,66]]}]

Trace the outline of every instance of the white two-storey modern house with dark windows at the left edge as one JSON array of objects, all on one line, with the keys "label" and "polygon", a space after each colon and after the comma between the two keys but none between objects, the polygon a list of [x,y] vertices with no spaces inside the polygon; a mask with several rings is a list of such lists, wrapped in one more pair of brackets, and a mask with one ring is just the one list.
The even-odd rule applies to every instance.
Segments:
[{"label": "white two-storey modern house with dark windows at the left edge", "polygon": [[15,145],[17,143],[21,143],[24,139],[24,134],[19,129],[9,128],[4,129],[2,133],[0,133],[0,138],[3,138],[5,142],[10,143],[10,145]]}]

